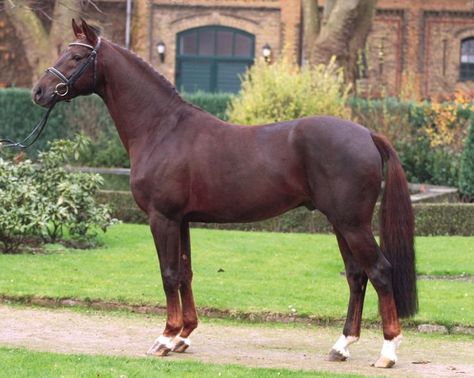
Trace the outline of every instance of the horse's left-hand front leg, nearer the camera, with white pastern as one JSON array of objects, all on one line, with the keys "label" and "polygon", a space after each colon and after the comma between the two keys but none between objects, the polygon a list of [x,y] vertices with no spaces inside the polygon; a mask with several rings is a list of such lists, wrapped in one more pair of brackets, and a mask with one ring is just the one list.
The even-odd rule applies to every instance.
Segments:
[{"label": "horse's left-hand front leg, nearer the camera, with white pastern", "polygon": [[180,285],[180,222],[156,215],[150,217],[151,232],[160,262],[163,289],[166,295],[167,320],[163,334],[147,354],[166,356],[173,349],[173,340],[183,328],[179,300]]}]

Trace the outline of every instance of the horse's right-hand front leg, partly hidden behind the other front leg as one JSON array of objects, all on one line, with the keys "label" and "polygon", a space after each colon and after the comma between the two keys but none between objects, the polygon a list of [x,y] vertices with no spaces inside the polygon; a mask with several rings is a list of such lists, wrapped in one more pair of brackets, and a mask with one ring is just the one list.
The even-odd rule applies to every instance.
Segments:
[{"label": "horse's right-hand front leg, partly hidden behind the other front leg", "polygon": [[191,268],[191,241],[189,237],[189,223],[181,223],[181,269],[180,286],[181,303],[183,306],[183,329],[175,339],[174,352],[182,353],[191,345],[189,335],[198,325],[196,306],[194,304],[192,279],[193,271]]}]

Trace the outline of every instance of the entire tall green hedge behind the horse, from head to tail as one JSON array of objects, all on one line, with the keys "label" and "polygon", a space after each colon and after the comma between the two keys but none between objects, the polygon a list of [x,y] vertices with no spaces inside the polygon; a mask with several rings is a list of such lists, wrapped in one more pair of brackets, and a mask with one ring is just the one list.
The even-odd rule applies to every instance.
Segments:
[{"label": "entire tall green hedge behind the horse, from head to tail", "polygon": [[[217,117],[226,119],[226,109],[232,95],[197,92],[185,93],[183,97]],[[426,126],[429,103],[403,102],[388,97],[383,100],[351,98],[348,105],[352,116],[364,125],[393,136],[410,182],[458,187],[459,154],[443,148],[432,148],[426,137],[415,137]],[[0,138],[22,140],[41,119],[44,111],[32,103],[28,89],[0,89]],[[470,107],[458,114],[460,119],[465,120],[470,116]],[[381,124],[385,126],[381,127]],[[70,138],[80,131],[93,140],[89,154],[80,162],[82,165],[129,166],[127,154],[108,111],[97,96],[80,97],[70,104],[58,104],[42,137],[27,153],[34,158],[39,150],[45,148],[47,141]],[[408,139],[402,140],[401,136]],[[463,176],[471,174],[464,172]]]}]

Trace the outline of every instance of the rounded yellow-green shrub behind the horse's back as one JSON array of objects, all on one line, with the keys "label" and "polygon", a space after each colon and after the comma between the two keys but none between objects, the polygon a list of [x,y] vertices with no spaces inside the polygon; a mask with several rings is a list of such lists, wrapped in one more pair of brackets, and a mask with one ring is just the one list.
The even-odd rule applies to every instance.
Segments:
[{"label": "rounded yellow-green shrub behind the horse's back", "polygon": [[309,115],[349,117],[349,86],[335,61],[299,68],[285,60],[258,62],[242,77],[239,95],[229,103],[229,120],[245,125]]}]

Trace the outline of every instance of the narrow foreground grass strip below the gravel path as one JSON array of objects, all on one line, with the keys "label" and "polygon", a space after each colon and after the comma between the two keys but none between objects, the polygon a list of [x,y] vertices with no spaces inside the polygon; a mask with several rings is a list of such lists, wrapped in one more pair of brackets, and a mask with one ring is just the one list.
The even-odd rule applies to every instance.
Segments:
[{"label": "narrow foreground grass strip below the gravel path", "polygon": [[0,348],[0,377],[361,377],[157,358],[64,355]]}]

